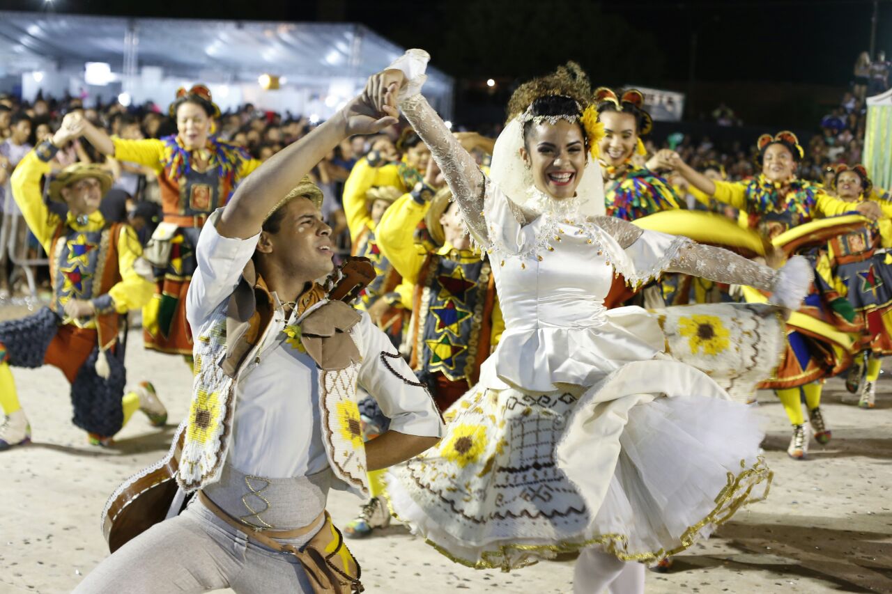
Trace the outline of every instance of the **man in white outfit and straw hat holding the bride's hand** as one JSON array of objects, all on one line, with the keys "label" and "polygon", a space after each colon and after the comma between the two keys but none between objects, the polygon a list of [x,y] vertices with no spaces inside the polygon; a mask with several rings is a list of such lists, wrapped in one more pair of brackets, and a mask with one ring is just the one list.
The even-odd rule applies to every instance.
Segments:
[{"label": "man in white outfit and straw hat holding the bride's hand", "polygon": [[[77,592],[310,592],[309,565],[298,564],[308,544],[326,551],[325,563],[340,559],[341,577],[355,584],[325,513],[329,487],[366,495],[367,470],[433,446],[442,420],[368,314],[314,284],[332,271],[334,252],[322,194],[305,176],[347,136],[395,121],[355,99],[264,162],[208,219],[186,300],[196,375],[177,474],[181,489],[200,495],[118,549]],[[365,446],[357,381],[392,419]]]}]

